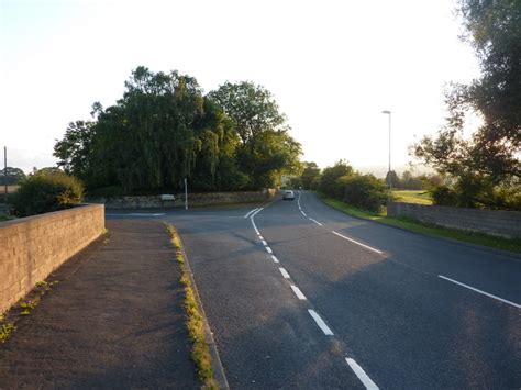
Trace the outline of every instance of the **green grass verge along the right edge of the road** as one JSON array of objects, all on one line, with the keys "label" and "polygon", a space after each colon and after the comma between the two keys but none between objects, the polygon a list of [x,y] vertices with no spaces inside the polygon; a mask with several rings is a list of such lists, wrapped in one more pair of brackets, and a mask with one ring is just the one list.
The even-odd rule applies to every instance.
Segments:
[{"label": "green grass verge along the right edge of the road", "polygon": [[495,237],[483,233],[461,231],[457,229],[440,227],[434,224],[423,223],[413,219],[387,216],[386,213],[376,214],[367,210],[357,209],[340,200],[325,197],[321,193],[318,193],[318,196],[325,204],[331,205],[333,209],[364,220],[370,220],[384,223],[386,225],[400,227],[411,232],[421,233],[434,237],[452,238],[465,243],[488,246],[497,249],[521,253],[520,239],[509,239],[502,237]]}]

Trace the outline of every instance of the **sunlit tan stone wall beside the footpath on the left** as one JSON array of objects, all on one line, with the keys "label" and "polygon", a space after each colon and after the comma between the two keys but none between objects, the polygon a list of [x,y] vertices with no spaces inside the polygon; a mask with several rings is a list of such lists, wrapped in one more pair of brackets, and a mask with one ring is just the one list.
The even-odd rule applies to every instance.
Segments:
[{"label": "sunlit tan stone wall beside the footpath on the left", "polygon": [[104,229],[102,204],[0,222],[0,313]]}]

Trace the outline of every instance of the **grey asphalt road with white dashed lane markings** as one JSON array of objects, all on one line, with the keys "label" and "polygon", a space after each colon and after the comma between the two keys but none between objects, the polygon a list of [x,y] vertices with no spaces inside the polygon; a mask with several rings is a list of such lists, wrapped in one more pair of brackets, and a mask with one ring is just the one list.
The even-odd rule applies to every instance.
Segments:
[{"label": "grey asphalt road with white dashed lane markings", "polygon": [[231,388],[521,387],[519,257],[297,197],[153,216],[181,234]]}]

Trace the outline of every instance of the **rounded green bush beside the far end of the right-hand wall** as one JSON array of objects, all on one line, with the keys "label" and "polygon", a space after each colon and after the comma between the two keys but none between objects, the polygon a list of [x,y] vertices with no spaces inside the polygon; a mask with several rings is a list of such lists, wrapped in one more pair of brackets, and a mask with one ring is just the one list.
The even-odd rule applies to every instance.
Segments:
[{"label": "rounded green bush beside the far end of the right-hand wall", "polygon": [[343,201],[378,212],[387,202],[386,186],[373,175],[350,175],[336,180],[344,190]]}]

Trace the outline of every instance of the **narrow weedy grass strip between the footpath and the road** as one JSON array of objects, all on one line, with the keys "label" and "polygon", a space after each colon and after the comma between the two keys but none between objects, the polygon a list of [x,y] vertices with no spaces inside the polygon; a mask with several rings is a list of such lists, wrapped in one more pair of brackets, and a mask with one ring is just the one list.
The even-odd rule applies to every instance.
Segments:
[{"label": "narrow weedy grass strip between the footpath and the road", "polygon": [[185,287],[185,310],[187,312],[187,328],[192,343],[191,357],[197,366],[197,374],[203,383],[204,389],[219,389],[218,382],[213,376],[212,358],[210,348],[204,336],[204,320],[197,303],[191,279],[188,274],[188,267],[185,264],[182,246],[179,235],[174,226],[167,224],[167,231],[170,234],[170,242],[176,249],[176,259],[181,270],[180,282]]}]

